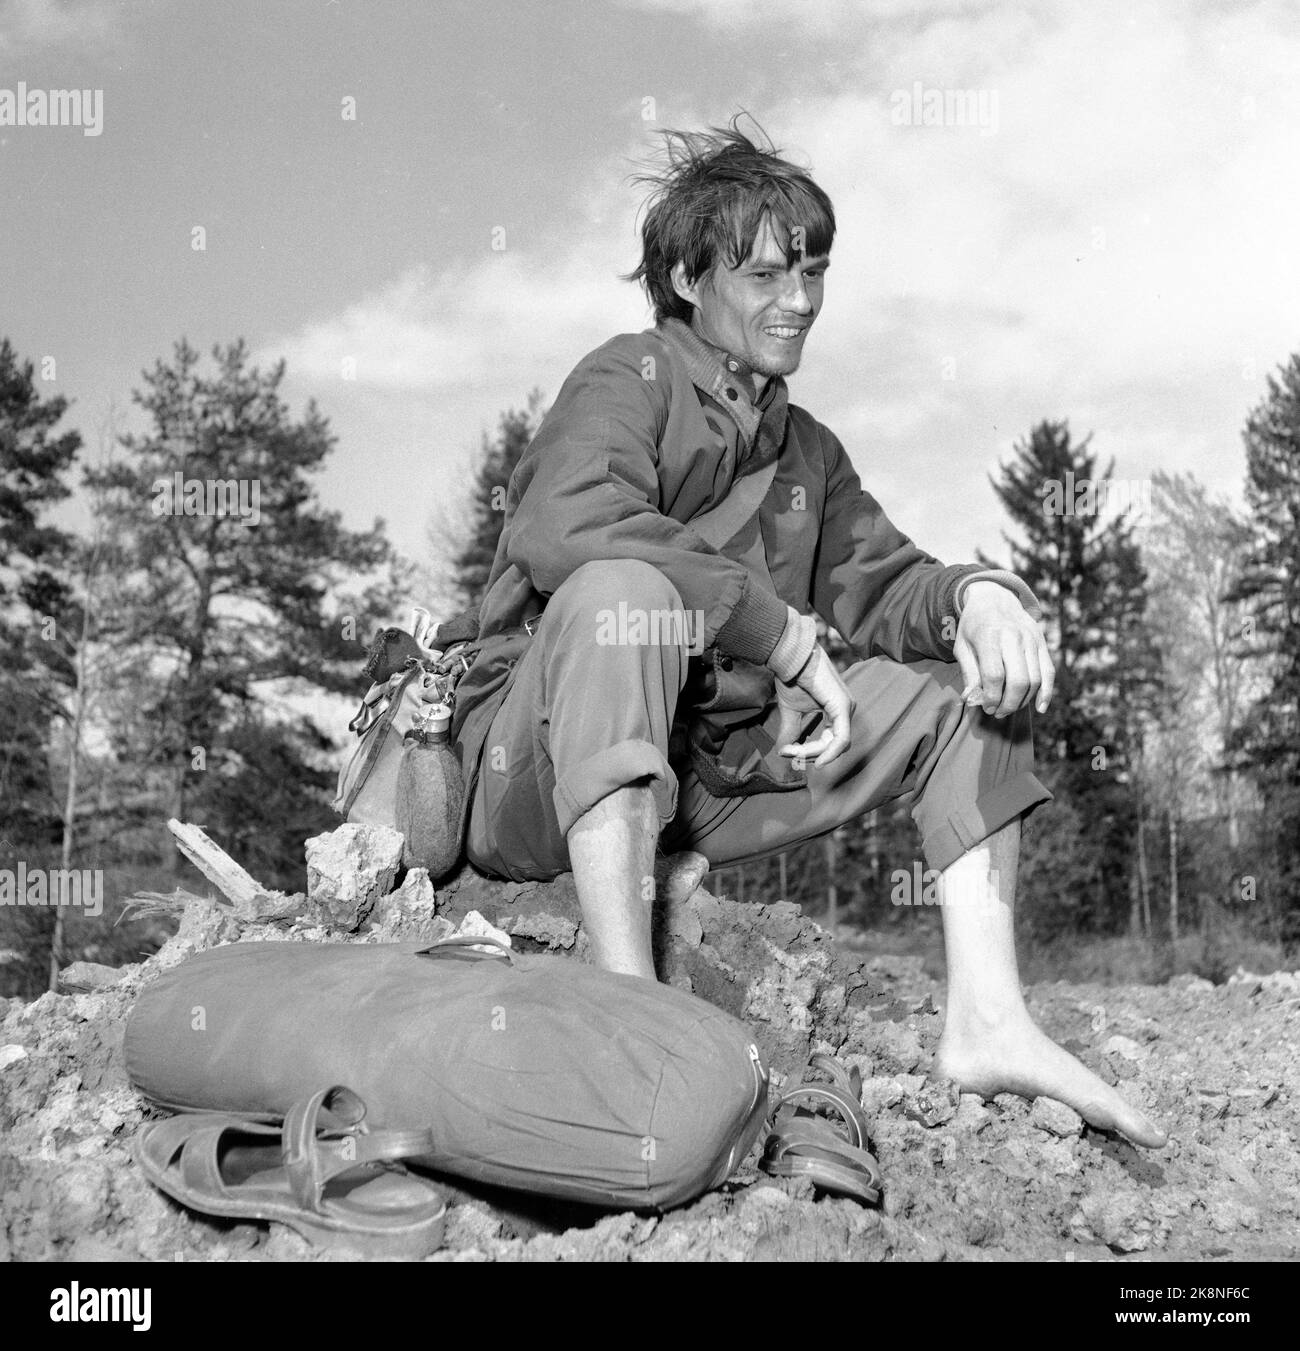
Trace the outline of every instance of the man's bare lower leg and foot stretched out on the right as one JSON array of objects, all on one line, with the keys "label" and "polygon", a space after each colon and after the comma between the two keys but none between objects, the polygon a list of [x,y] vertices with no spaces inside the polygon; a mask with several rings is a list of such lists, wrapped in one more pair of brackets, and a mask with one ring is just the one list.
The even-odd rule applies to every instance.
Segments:
[{"label": "man's bare lower leg and foot stretched out on the right", "polygon": [[947,1016],[932,1074],[970,1093],[1057,1098],[1089,1124],[1158,1148],[1165,1135],[1038,1029],[1024,1006],[1012,917],[1020,823],[942,873]]}]

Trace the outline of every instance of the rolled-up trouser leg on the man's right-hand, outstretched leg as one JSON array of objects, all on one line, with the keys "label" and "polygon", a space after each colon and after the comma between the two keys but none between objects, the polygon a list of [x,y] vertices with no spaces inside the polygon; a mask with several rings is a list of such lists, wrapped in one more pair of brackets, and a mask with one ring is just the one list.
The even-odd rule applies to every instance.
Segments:
[{"label": "rolled-up trouser leg on the man's right-hand, outstretched leg", "polygon": [[[665,850],[699,850],[715,867],[778,854],[885,802],[911,804],[926,863],[966,850],[1051,800],[1032,773],[1028,709],[1005,719],[968,708],[955,662],[876,657],[845,671],[855,700],[849,750],[808,766],[805,788],[719,798],[678,766]],[[808,715],[804,732],[818,721]],[[777,712],[769,719],[776,732]],[[801,738],[803,739],[803,738]]]}]

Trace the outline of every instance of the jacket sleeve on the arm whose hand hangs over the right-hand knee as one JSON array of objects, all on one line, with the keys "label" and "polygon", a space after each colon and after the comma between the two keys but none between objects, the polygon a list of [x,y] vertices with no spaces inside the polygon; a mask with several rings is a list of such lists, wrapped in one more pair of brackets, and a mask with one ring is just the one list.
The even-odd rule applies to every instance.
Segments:
[{"label": "jacket sleeve on the arm whose hand hangs over the right-hand knee", "polygon": [[945,567],[885,516],[845,447],[819,427],[826,501],[812,578],[812,605],[859,658],[953,659],[955,592],[977,563]]}]

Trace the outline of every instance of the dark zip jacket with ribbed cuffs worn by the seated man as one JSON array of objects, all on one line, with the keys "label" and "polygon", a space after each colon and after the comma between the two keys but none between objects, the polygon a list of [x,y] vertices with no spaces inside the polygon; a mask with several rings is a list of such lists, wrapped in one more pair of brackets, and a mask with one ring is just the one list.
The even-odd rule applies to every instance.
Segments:
[{"label": "dark zip jacket with ribbed cuffs worn by the seated man", "polygon": [[[457,690],[466,777],[530,640],[520,626],[586,562],[654,565],[703,613],[703,643],[743,663],[772,655],[786,605],[815,611],[859,659],[953,659],[954,593],[981,569],[918,549],[862,490],[835,435],[786,404],[782,380],[755,407],[736,369],[669,320],[612,338],[565,381],[511,477],[481,651]],[[719,553],[691,519],[765,454],[780,457],[772,489]]]}]

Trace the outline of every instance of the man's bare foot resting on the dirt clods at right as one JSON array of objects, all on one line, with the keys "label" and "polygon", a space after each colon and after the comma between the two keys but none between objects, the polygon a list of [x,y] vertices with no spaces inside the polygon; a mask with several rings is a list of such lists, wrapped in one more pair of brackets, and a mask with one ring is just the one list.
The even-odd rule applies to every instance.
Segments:
[{"label": "man's bare foot resting on the dirt clods at right", "polygon": [[1166,1136],[1115,1089],[1039,1031],[1028,1011],[997,1020],[954,1019],[939,1038],[931,1078],[951,1079],[966,1093],[1050,1097],[1101,1131],[1118,1131],[1158,1150]]}]

